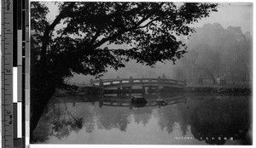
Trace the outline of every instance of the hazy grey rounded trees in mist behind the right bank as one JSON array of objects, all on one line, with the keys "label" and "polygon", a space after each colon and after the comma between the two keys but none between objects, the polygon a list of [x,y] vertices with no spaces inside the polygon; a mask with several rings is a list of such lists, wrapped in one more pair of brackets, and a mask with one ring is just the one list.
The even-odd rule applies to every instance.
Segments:
[{"label": "hazy grey rounded trees in mist behind the right bank", "polygon": [[[216,83],[217,76],[228,81],[248,81],[252,65],[250,37],[240,27],[224,29],[218,23],[207,24],[195,29],[189,38],[188,54],[178,65],[177,73],[186,73],[189,82],[204,76]],[[185,68],[183,68],[185,67]],[[180,76],[180,75],[179,75]]]}]

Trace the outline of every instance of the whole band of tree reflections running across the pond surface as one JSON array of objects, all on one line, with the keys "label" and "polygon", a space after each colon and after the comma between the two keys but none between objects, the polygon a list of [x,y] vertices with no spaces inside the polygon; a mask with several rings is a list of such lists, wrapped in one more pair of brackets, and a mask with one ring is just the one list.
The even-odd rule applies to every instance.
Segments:
[{"label": "whole band of tree reflections running across the pond surface", "polygon": [[[72,104],[73,102],[52,103],[44,112],[35,134],[38,141],[44,142],[49,135],[62,139],[71,131],[78,132],[82,127],[87,133],[91,133],[96,127],[108,130],[119,128],[123,132],[127,130],[131,117],[134,117],[134,122],[137,124],[142,122],[146,126],[154,115],[158,118],[160,128],[168,134],[172,134],[175,125],[178,125],[177,129],[185,136],[190,125],[195,139],[206,140],[208,144],[223,145],[225,140],[219,140],[218,136],[244,139],[247,134],[251,122],[247,99],[247,97],[212,97],[211,99],[203,97],[202,100],[189,100],[186,104],[179,103],[160,108],[146,106],[136,109],[113,106],[98,108],[98,105],[84,103],[79,106],[77,103]],[[75,112],[70,112],[71,109]],[[216,139],[212,140],[211,137]]]}]

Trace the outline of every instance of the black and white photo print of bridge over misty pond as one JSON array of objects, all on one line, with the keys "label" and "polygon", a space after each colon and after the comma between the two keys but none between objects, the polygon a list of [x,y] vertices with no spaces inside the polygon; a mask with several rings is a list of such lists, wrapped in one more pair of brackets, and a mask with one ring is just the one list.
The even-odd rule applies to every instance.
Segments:
[{"label": "black and white photo print of bridge over misty pond", "polygon": [[30,3],[33,145],[253,145],[253,3]]}]

